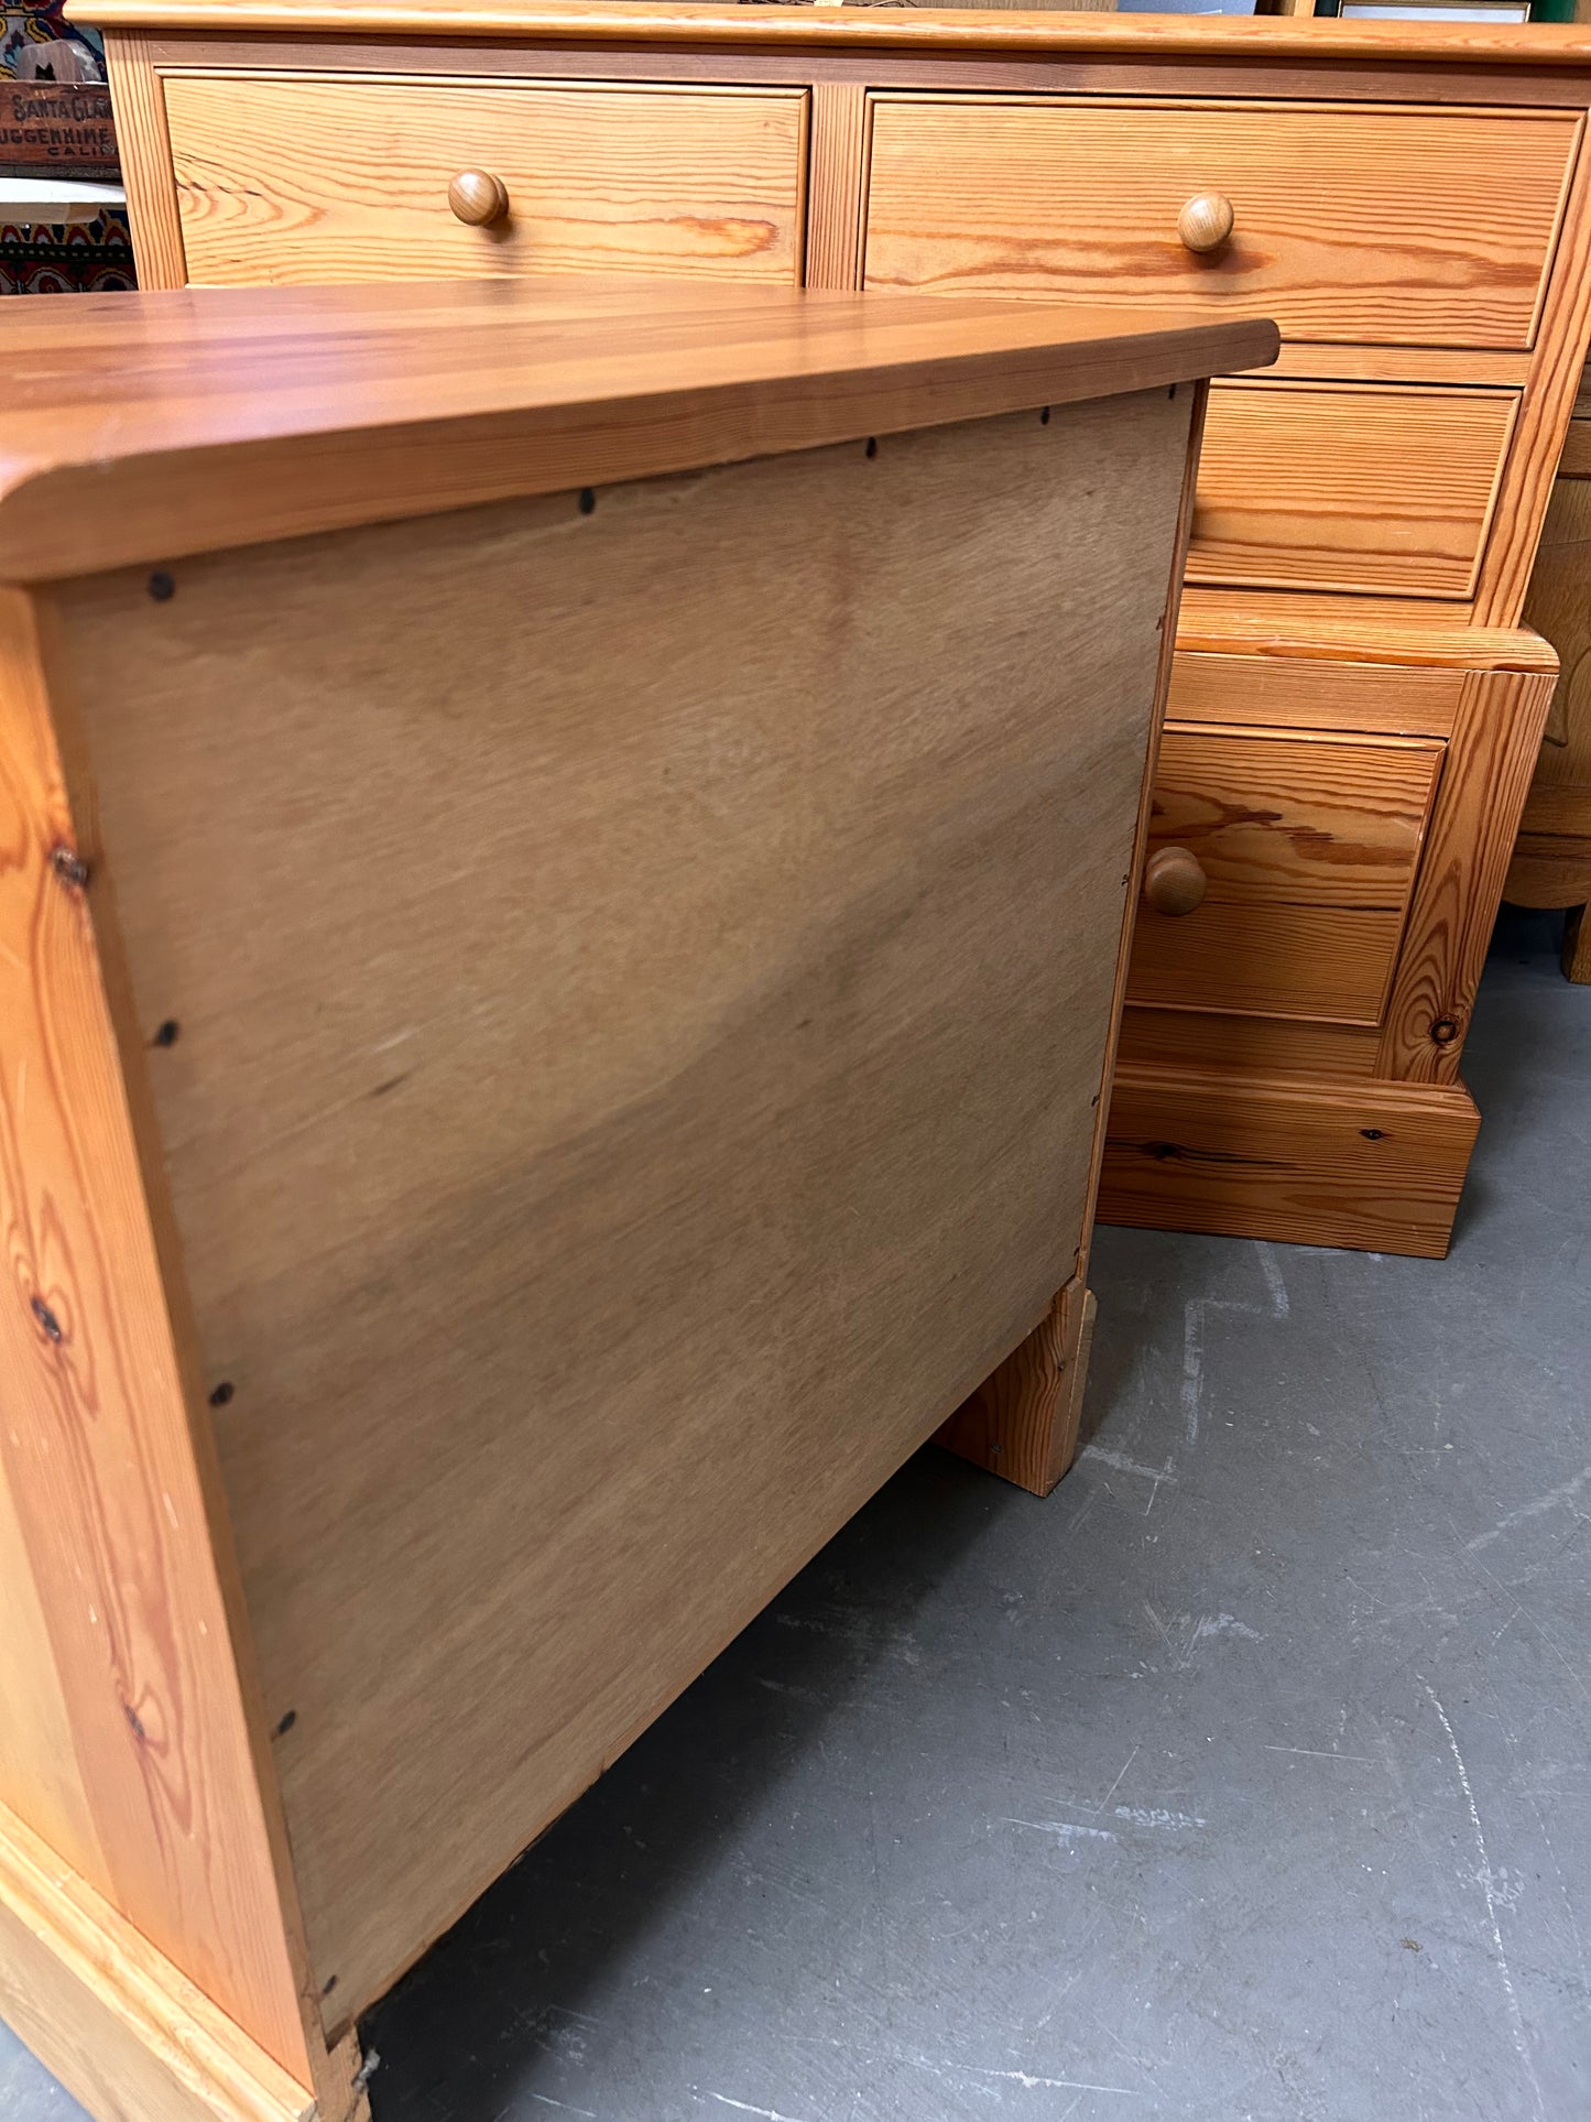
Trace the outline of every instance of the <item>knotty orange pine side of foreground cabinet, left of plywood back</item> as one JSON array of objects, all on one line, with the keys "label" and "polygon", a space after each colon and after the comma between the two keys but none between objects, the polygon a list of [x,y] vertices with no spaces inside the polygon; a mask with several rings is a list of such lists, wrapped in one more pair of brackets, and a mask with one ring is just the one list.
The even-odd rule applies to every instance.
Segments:
[{"label": "knotty orange pine side of foreground cabinet, left of plywood back", "polygon": [[[59,853],[57,853],[59,851]],[[303,2075],[261,1797],[30,605],[0,603],[0,1466],[81,1778],[19,1810]],[[13,1600],[21,1564],[6,1564]],[[42,1655],[32,1630],[34,1659]],[[30,1664],[34,1662],[30,1659]],[[6,1662],[6,1683],[25,1681]],[[93,1842],[83,1829],[93,1821]]]}]

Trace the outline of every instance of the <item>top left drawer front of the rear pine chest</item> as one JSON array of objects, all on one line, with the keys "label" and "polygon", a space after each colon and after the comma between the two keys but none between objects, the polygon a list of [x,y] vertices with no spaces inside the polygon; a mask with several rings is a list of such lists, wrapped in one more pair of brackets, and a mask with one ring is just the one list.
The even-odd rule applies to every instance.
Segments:
[{"label": "top left drawer front of the rear pine chest", "polygon": [[[806,89],[165,83],[189,284],[639,272],[800,280]],[[456,216],[462,172],[507,210]]]}]

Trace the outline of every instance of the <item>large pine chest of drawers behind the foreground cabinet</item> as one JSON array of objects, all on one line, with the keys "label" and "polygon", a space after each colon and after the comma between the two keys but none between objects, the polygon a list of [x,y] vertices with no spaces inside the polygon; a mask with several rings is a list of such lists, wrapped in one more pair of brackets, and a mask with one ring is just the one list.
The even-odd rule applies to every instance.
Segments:
[{"label": "large pine chest of drawers behind the foreground cabinet", "polygon": [[1107,1220],[1440,1254],[1555,658],[1576,28],[78,0],[146,284],[622,269],[1271,314],[1209,401]]}]

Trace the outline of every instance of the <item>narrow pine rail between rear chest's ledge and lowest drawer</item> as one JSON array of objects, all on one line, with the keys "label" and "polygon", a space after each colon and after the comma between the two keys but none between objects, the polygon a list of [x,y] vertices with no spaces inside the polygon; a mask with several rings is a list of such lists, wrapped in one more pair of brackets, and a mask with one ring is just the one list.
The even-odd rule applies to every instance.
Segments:
[{"label": "narrow pine rail between rear chest's ledge and lowest drawer", "polygon": [[1184,651],[1171,673],[1175,721],[1237,721],[1279,730],[1366,730],[1447,736],[1464,675],[1309,656]]}]

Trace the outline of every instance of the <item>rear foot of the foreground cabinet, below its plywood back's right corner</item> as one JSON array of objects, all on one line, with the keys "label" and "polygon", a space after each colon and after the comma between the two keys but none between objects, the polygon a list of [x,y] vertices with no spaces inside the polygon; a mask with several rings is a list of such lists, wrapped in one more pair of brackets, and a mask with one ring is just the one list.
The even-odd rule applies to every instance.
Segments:
[{"label": "rear foot of the foreground cabinet, below its plywood back's right corner", "polygon": [[1048,1316],[957,1407],[938,1443],[1048,1496],[1078,1451],[1095,1292],[1069,1282]]}]

